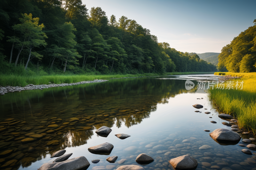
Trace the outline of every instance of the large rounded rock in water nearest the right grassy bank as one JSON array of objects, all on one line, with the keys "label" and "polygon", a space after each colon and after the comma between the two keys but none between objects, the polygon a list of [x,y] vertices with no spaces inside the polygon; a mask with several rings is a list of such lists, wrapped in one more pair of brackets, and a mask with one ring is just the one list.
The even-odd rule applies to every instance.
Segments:
[{"label": "large rounded rock in water nearest the right grassy bank", "polygon": [[236,132],[228,129],[215,129],[210,133],[210,137],[215,141],[239,141],[241,138]]}]

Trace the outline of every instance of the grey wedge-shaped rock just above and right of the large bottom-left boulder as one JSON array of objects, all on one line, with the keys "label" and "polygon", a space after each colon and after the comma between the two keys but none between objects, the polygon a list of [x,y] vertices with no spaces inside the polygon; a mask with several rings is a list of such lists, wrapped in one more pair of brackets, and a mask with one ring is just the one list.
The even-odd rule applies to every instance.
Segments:
[{"label": "grey wedge-shaped rock just above and right of the large bottom-left boulder", "polygon": [[106,142],[97,146],[92,146],[88,148],[88,151],[99,155],[109,155],[113,148],[114,146],[112,144]]}]

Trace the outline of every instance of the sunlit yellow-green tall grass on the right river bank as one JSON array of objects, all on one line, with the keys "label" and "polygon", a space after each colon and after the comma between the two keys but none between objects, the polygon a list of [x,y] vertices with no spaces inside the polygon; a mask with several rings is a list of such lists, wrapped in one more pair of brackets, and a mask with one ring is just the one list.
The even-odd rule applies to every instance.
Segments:
[{"label": "sunlit yellow-green tall grass on the right river bank", "polygon": [[208,97],[221,112],[233,115],[238,120],[240,128],[256,135],[256,73],[216,72],[214,74],[241,77],[234,81],[244,81],[242,90],[209,89]]}]

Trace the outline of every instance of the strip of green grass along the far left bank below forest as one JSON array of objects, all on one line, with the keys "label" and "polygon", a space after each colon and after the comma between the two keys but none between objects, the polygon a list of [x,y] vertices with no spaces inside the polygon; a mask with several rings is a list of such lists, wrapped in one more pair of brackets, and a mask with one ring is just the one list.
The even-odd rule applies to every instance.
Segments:
[{"label": "strip of green grass along the far left bank below forest", "polygon": [[47,75],[47,76],[22,76],[14,74],[0,74],[1,86],[25,86],[48,85],[48,82],[54,84],[76,83],[80,81],[88,81],[94,79],[110,79],[110,78],[129,78],[129,77],[146,77],[146,76],[169,76],[169,75],[185,75],[185,74],[204,74],[204,72],[185,72],[185,73],[144,73],[144,74],[114,74],[114,75]]}]

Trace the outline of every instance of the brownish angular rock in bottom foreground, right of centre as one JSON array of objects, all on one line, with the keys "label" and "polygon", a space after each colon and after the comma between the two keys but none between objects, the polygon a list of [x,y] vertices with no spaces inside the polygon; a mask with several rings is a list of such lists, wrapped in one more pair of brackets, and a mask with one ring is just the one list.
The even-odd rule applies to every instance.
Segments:
[{"label": "brownish angular rock in bottom foreground, right of centre", "polygon": [[173,158],[169,163],[176,169],[194,169],[198,165],[196,159],[189,155]]}]

